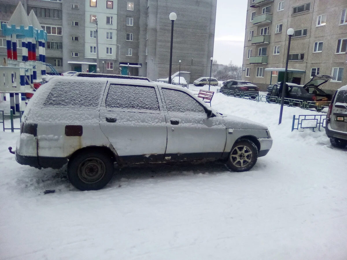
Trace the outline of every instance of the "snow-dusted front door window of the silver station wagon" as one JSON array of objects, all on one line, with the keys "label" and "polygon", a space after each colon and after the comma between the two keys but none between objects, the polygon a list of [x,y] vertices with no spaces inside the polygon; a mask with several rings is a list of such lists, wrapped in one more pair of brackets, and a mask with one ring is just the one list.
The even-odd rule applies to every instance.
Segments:
[{"label": "snow-dusted front door window of the silver station wagon", "polygon": [[204,107],[185,92],[169,88],[162,88],[162,92],[168,112],[205,113]]}]

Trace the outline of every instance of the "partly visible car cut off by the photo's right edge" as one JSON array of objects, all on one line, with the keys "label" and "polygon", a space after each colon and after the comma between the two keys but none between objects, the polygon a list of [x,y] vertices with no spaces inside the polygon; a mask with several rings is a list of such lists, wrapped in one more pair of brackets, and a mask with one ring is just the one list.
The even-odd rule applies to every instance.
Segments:
[{"label": "partly visible car cut off by the photo's right edge", "polygon": [[332,146],[344,148],[347,145],[347,85],[339,88],[332,98],[325,132]]}]

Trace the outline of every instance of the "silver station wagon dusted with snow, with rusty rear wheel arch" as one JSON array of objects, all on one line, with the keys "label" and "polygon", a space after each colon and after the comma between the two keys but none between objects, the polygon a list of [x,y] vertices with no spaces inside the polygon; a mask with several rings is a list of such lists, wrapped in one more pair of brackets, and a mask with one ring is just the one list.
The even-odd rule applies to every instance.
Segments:
[{"label": "silver station wagon dusted with snow, with rusty rear wheel arch", "polygon": [[115,163],[220,160],[243,172],[272,146],[266,126],[218,113],[182,87],[93,73],[46,81],[23,114],[16,160],[36,168],[67,163],[80,190],[103,188]]}]

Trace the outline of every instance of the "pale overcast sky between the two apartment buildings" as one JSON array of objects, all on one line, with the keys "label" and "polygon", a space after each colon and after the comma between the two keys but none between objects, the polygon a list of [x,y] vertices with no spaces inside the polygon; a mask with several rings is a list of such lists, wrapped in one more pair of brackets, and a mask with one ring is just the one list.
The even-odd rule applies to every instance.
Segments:
[{"label": "pale overcast sky between the two apartment buildings", "polygon": [[248,1],[217,0],[213,58],[242,66]]}]

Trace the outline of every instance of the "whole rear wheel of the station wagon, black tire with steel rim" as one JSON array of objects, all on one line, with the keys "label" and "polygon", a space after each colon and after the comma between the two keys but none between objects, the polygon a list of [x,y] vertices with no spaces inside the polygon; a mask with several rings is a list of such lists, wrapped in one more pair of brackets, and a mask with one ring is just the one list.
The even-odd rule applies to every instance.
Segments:
[{"label": "whole rear wheel of the station wagon, black tire with steel rim", "polygon": [[107,153],[82,151],[69,160],[67,176],[79,190],[100,190],[110,182],[113,171],[113,160]]}]

